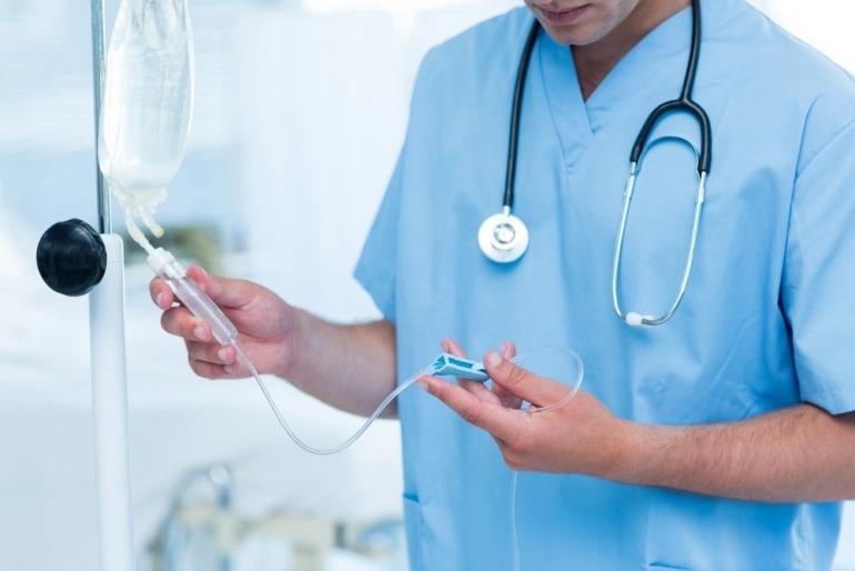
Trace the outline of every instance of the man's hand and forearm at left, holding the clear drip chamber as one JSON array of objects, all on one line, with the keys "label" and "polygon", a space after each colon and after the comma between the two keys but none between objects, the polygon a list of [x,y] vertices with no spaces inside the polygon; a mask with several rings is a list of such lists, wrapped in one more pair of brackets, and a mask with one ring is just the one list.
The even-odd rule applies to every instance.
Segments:
[{"label": "man's hand and forearm at left, holding the clear drip chamber", "polygon": [[[209,379],[275,375],[331,407],[360,415],[370,414],[394,389],[393,323],[331,323],[263,286],[208,276],[197,267],[182,278],[193,282],[194,291],[187,291],[195,292],[201,303],[199,299],[190,305],[188,299],[180,302],[182,290],[172,290],[169,274],[153,279],[150,293],[163,310],[163,329],[184,340],[197,374]],[[205,312],[221,317],[214,328],[204,319]],[[394,407],[386,414],[393,415]]]}]

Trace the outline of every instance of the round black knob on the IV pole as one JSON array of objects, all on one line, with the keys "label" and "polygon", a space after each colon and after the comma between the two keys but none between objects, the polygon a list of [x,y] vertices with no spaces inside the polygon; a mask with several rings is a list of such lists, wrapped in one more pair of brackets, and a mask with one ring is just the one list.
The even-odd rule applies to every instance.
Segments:
[{"label": "round black knob on the IV pole", "polygon": [[107,249],[94,228],[72,218],[42,234],[36,262],[50,289],[64,295],[86,295],[104,277]]}]

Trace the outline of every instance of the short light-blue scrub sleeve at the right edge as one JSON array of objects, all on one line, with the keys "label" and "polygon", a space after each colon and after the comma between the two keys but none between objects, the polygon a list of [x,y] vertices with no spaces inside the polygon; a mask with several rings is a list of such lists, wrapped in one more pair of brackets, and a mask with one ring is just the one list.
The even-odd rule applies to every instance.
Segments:
[{"label": "short light-blue scrub sleeve at the right edge", "polygon": [[[793,325],[801,397],[833,414],[855,410],[855,123],[839,124],[837,106],[817,103],[814,122],[833,138],[802,149],[793,191],[782,300]],[[826,136],[827,137],[827,136]]]}]

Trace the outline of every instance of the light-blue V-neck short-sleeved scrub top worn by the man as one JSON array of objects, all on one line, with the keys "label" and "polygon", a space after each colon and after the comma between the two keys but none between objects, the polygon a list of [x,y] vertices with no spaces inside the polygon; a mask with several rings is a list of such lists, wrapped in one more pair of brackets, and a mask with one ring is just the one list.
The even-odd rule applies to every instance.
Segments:
[{"label": "light-blue V-neck short-sleeved scrub top worn by the man", "polygon": [[[532,16],[486,21],[432,50],[404,148],[356,277],[398,331],[401,378],[456,338],[481,357],[574,349],[583,388],[638,422],[735,421],[801,402],[855,409],[855,83],[743,0],[703,4],[694,89],[713,124],[694,270],[666,324],[612,309],[628,156],[677,97],[691,12],[644,38],[583,101],[566,46],[541,33],[522,111],[514,212],[531,246],[489,261],[511,100]],[[673,116],[642,166],[621,269],[625,310],[661,314],[685,261],[696,124]],[[511,471],[489,435],[432,397],[400,398],[412,570],[826,570],[837,503],[763,504]],[[516,528],[514,535],[512,528]]]}]

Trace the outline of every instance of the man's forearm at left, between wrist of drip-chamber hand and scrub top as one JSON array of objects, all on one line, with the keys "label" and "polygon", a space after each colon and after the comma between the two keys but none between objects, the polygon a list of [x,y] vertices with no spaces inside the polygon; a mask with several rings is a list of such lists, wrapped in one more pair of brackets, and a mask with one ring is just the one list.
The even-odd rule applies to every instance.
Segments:
[{"label": "man's forearm at left, between wrist of drip-chamber hand and scrub top", "polygon": [[[280,375],[335,408],[368,415],[395,385],[395,329],[389,321],[342,325],[296,311],[292,355]],[[384,417],[394,417],[394,402]]]}]

